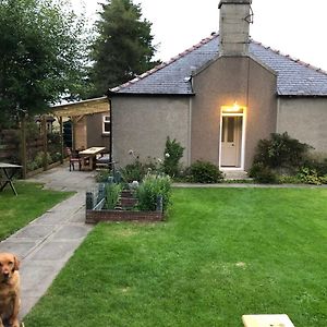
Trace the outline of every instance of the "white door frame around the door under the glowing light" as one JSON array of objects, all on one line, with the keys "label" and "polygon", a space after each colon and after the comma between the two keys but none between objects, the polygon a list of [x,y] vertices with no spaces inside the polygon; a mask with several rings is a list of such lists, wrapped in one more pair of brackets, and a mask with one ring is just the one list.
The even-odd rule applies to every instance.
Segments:
[{"label": "white door frame around the door under the glowing light", "polygon": [[[226,106],[221,107],[220,110],[220,130],[219,130],[219,169],[221,170],[244,170],[245,162],[245,131],[246,131],[246,107],[239,107],[242,109],[242,112],[232,112],[226,110]],[[225,111],[226,110],[226,111]],[[241,117],[242,118],[242,135],[241,135],[241,165],[240,167],[221,167],[221,140],[222,140],[222,118],[223,117]]]}]

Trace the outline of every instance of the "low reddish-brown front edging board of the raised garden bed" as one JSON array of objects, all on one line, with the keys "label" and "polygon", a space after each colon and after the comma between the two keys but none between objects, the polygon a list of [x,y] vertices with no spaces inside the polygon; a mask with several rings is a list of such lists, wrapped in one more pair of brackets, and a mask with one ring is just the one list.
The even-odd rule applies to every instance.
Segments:
[{"label": "low reddish-brown front edging board of the raised garden bed", "polygon": [[132,210],[86,210],[86,223],[100,221],[161,221],[161,211],[132,211]]}]

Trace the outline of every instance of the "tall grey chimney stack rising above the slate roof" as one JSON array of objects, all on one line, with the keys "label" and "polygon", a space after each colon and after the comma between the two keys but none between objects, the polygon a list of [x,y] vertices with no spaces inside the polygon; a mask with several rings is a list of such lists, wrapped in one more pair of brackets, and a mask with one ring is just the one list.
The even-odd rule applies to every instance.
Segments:
[{"label": "tall grey chimney stack rising above the slate roof", "polygon": [[220,56],[249,56],[251,3],[252,0],[220,0]]}]

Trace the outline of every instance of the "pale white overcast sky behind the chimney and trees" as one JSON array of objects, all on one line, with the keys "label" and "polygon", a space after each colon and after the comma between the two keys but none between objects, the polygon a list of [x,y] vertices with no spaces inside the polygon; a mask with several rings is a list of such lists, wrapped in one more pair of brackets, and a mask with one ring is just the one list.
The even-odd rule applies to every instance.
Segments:
[{"label": "pale white overcast sky behind the chimney and trees", "polygon": [[[81,10],[84,1],[87,16],[96,20],[99,2],[72,0]],[[133,0],[140,3],[144,17],[153,23],[157,45],[156,59],[168,61],[219,29],[219,0]],[[326,0],[253,0],[251,37],[327,71]]]}]

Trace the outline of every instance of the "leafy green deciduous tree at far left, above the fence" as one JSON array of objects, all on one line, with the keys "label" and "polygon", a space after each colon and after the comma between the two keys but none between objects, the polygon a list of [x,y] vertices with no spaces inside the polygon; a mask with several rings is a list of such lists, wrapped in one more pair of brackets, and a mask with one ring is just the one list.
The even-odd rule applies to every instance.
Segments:
[{"label": "leafy green deciduous tree at far left, above the fence", "polygon": [[83,19],[64,0],[0,0],[0,125],[76,97],[85,75]]}]

